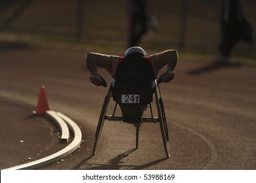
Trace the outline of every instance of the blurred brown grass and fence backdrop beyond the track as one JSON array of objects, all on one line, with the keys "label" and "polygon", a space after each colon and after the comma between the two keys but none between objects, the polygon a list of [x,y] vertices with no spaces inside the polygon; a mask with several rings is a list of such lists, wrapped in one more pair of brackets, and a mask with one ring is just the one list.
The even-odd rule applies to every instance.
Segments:
[{"label": "blurred brown grass and fence backdrop beyond the track", "polygon": [[[256,1],[241,2],[255,35]],[[149,29],[138,46],[152,53],[175,48],[217,58],[221,0],[160,0],[151,1],[149,8],[158,29]],[[128,30],[127,0],[0,0],[0,48],[16,42],[122,54],[128,48]],[[232,56],[256,58],[255,48],[238,42]]]}]

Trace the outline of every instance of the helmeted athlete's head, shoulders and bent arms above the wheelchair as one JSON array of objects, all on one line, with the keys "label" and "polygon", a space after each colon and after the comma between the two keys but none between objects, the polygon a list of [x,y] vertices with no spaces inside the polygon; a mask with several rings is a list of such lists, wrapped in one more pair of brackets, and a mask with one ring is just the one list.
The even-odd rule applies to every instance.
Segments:
[{"label": "helmeted athlete's head, shoulders and bent arms above the wheelchair", "polygon": [[176,50],[165,50],[148,56],[143,48],[133,46],[126,50],[124,56],[110,56],[90,52],[86,55],[86,65],[91,73],[90,81],[95,86],[107,86],[103,76],[98,73],[98,67],[104,68],[112,78],[122,76],[141,75],[149,80],[155,80],[160,70],[167,65],[166,71],[160,76],[161,82],[170,82],[174,79],[174,69],[177,65]]}]

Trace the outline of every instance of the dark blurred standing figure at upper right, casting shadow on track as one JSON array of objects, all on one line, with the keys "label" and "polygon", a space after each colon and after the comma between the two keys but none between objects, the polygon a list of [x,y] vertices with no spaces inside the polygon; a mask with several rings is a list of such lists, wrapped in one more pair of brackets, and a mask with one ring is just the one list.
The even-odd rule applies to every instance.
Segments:
[{"label": "dark blurred standing figure at upper right, casting shadow on track", "polygon": [[231,51],[238,41],[252,43],[251,25],[247,23],[240,0],[223,0],[221,12],[221,62],[229,63]]}]

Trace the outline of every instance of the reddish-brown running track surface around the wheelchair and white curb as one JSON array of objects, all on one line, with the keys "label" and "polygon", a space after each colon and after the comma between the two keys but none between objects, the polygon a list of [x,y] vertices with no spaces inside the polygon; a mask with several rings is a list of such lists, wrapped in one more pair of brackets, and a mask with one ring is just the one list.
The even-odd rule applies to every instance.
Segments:
[{"label": "reddish-brown running track surface around the wheelchair and white curb", "polygon": [[42,85],[50,109],[77,122],[83,140],[72,156],[42,169],[256,168],[255,67],[212,65],[211,60],[185,60],[180,54],[175,80],[160,85],[171,158],[165,158],[158,124],[142,125],[139,149],[133,151],[135,127],[122,122],[106,122],[97,154],[92,156],[107,88],[90,84],[85,55],[37,48],[0,51],[1,169],[43,158],[65,146],[52,123],[31,114]]}]

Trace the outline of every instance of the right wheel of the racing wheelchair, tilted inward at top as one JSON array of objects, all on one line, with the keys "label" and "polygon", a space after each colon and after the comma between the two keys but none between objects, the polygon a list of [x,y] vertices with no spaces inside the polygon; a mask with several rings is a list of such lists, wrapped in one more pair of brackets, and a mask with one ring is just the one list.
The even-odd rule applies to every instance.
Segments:
[{"label": "right wheel of the racing wheelchair, tilted inward at top", "polygon": [[166,152],[166,157],[170,158],[170,145],[169,145],[169,135],[168,127],[166,123],[166,114],[164,112],[164,104],[162,98],[160,97],[160,91],[158,86],[156,87],[156,105],[158,111],[158,121],[160,124],[160,129],[162,133],[162,141],[164,142],[164,150]]}]

